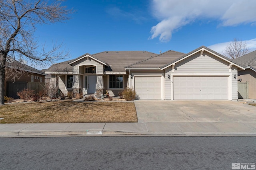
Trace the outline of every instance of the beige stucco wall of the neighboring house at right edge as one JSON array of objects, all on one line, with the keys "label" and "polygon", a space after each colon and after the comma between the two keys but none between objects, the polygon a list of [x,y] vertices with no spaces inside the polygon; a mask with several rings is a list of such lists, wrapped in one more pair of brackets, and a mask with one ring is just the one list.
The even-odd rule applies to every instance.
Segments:
[{"label": "beige stucco wall of the neighboring house at right edge", "polygon": [[250,68],[238,72],[238,79],[242,78],[241,82],[249,82],[249,98],[256,99],[256,72]]}]

